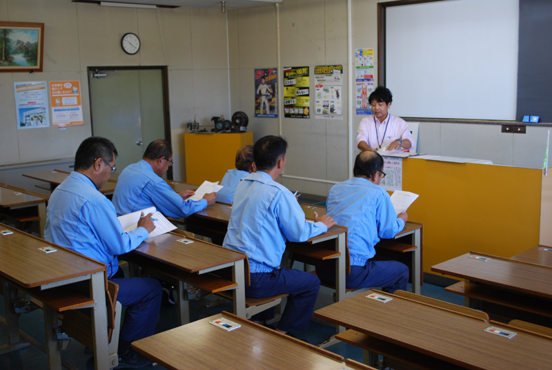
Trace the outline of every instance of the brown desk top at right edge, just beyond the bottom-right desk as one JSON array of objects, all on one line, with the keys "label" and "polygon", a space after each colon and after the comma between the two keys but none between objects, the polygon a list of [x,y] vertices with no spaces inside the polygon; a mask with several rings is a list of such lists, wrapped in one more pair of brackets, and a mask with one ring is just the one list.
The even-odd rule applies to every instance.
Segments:
[{"label": "brown desk top at right edge, just beyond the bottom-right desk", "polygon": [[[489,257],[477,260],[471,255]],[[436,264],[431,271],[552,299],[552,267],[470,252]]]}]

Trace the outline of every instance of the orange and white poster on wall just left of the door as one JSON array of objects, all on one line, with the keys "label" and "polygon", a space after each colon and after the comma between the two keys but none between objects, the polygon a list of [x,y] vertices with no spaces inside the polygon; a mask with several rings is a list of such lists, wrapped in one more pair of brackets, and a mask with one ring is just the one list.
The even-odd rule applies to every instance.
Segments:
[{"label": "orange and white poster on wall just left of the door", "polygon": [[50,81],[52,125],[75,126],[84,124],[80,81]]}]

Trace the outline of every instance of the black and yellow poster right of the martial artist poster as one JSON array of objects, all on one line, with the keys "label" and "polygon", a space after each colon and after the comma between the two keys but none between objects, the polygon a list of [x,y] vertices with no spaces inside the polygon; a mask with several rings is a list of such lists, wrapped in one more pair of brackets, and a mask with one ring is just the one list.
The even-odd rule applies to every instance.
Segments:
[{"label": "black and yellow poster right of the martial artist poster", "polygon": [[284,68],[284,117],[310,118],[308,67]]}]

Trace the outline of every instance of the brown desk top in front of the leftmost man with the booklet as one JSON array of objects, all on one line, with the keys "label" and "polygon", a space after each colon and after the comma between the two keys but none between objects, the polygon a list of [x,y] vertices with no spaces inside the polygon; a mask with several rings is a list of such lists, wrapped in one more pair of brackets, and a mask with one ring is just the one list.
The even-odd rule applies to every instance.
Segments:
[{"label": "brown desk top in front of the leftmost man with the booklet", "polygon": [[[193,243],[184,244],[177,240],[186,238]],[[166,233],[144,240],[137,249],[130,253],[137,253],[174,266],[189,273],[196,273],[221,264],[244,260],[246,255],[230,249],[203,242],[201,240],[184,237],[177,233]]]}]

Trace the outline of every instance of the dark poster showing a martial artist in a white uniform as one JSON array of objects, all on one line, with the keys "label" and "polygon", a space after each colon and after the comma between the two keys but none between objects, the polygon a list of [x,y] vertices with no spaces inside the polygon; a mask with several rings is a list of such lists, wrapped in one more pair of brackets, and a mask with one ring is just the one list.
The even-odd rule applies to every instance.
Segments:
[{"label": "dark poster showing a martial artist in a white uniform", "polygon": [[278,117],[276,68],[255,69],[255,117]]}]

